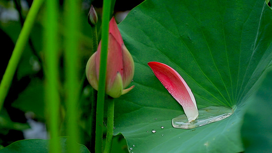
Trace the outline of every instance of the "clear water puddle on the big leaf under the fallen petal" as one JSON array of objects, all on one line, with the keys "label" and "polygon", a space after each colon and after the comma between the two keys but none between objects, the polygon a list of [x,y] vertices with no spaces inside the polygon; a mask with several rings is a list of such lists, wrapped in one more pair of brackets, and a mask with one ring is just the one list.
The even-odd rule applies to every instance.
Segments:
[{"label": "clear water puddle on the big leaf under the fallen petal", "polygon": [[188,122],[185,114],[172,119],[172,126],[178,129],[194,129],[212,122],[225,119],[233,114],[236,106],[232,108],[223,106],[209,106],[199,109],[199,118],[192,122]]}]

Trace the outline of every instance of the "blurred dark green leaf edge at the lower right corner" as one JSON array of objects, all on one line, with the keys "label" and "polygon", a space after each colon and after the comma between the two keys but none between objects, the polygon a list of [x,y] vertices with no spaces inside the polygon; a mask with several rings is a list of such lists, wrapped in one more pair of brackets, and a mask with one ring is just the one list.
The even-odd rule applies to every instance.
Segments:
[{"label": "blurred dark green leaf edge at the lower right corner", "polygon": [[270,152],[272,146],[272,71],[268,72],[244,115],[241,135],[245,152]]}]

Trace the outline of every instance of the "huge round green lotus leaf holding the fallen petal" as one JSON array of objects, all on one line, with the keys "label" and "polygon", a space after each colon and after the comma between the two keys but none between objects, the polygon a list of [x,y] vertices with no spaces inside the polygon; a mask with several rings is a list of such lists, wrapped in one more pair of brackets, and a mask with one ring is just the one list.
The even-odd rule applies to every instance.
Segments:
[{"label": "huge round green lotus leaf holding the fallen petal", "polygon": [[[122,133],[135,152],[243,151],[246,103],[272,60],[271,16],[265,1],[254,0],[147,0],[131,10],[118,26],[135,61],[135,88],[116,100],[114,134]],[[236,111],[196,129],[175,129],[171,119],[182,107],[150,61],[176,69],[199,108],[236,105]]]}]

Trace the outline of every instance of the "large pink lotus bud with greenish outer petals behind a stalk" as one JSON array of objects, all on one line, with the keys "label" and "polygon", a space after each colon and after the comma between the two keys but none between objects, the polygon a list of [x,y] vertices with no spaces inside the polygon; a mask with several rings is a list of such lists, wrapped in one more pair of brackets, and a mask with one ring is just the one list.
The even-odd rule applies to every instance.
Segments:
[{"label": "large pink lotus bud with greenish outer petals behind a stalk", "polygon": [[[86,66],[86,75],[91,86],[98,89],[101,42],[97,51],[90,57]],[[109,46],[106,73],[106,94],[117,98],[129,92],[134,86],[125,89],[133,79],[134,62],[129,50],[123,43],[114,17],[110,20]]]}]

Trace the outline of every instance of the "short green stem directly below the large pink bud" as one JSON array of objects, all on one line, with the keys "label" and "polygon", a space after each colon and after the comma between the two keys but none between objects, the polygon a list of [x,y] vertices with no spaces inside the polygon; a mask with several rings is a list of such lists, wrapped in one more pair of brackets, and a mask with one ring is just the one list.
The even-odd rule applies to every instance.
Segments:
[{"label": "short green stem directly below the large pink bud", "polygon": [[107,118],[107,136],[104,153],[110,153],[112,147],[113,137],[113,116],[114,116],[114,98],[110,98],[108,101],[108,118]]}]

